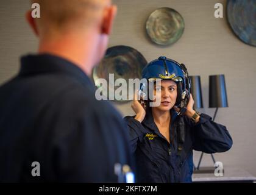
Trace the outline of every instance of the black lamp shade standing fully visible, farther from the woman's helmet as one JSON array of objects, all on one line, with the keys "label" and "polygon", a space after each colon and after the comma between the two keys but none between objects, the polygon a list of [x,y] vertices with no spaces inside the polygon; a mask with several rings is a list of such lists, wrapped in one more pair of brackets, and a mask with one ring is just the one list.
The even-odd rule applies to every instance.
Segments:
[{"label": "black lamp shade standing fully visible, farther from the woman's helmet", "polygon": [[228,107],[224,74],[209,76],[209,107]]}]

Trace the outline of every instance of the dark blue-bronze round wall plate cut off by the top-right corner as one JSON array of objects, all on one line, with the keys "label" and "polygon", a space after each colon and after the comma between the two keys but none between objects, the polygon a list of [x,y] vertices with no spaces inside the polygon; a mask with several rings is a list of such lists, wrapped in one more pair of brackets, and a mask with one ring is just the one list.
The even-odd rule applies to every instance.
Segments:
[{"label": "dark blue-bronze round wall plate cut off by the top-right corner", "polygon": [[256,0],[228,0],[227,19],[240,40],[256,46]]}]

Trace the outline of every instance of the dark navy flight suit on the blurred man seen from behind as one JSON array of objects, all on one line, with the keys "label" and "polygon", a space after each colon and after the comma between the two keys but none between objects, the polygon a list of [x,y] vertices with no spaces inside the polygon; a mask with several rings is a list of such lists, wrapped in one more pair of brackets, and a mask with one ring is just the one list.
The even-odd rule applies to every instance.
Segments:
[{"label": "dark navy flight suit on the blurred man seen from behind", "polygon": [[0,182],[118,182],[115,164],[132,166],[129,135],[94,90],[68,60],[23,57],[18,76],[0,87]]}]

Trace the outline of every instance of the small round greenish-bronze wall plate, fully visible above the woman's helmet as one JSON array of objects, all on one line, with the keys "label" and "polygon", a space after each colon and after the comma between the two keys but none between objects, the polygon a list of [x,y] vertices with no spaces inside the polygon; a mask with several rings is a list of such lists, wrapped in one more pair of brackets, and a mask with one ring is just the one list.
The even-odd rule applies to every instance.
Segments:
[{"label": "small round greenish-bronze wall plate, fully visible above the woman's helmet", "polygon": [[146,30],[157,44],[173,44],[182,36],[185,23],[176,10],[163,7],[155,10],[148,18]]}]

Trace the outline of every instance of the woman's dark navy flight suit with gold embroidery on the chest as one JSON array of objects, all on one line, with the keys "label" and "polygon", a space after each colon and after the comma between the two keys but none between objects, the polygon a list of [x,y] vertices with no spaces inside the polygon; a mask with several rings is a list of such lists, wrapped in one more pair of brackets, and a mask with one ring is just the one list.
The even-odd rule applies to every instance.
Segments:
[{"label": "woman's dark navy flight suit with gold embroidery on the chest", "polygon": [[137,182],[191,182],[193,174],[193,149],[205,153],[224,152],[232,146],[226,127],[201,114],[193,124],[186,116],[185,142],[178,152],[177,113],[171,110],[169,143],[159,132],[149,109],[140,123],[134,116],[126,116],[130,145],[137,163]]}]

